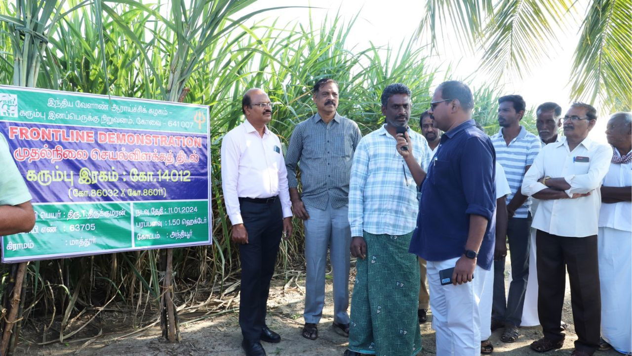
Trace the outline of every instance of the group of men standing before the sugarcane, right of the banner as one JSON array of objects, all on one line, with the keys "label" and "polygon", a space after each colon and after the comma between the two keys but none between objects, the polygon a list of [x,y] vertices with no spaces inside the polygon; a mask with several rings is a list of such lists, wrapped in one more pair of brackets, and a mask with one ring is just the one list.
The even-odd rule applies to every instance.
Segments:
[{"label": "group of men standing before the sugarcane, right of the banner", "polygon": [[538,324],[544,336],[532,350],[561,348],[566,270],[578,336],[571,355],[632,352],[630,113],[612,115],[602,144],[588,138],[595,108],[574,103],[562,117],[559,105],[544,103],[538,137],[520,124],[523,98],[507,95],[490,137],[471,118],[470,88],[448,81],[417,132],[410,89],[391,84],[380,98],[384,125],[363,137],[337,112],[335,80],[315,83],[312,99],[317,113],[296,125],[285,156],[267,127],[274,103],[261,89],[243,95],[246,120],[222,142],[246,355],[265,355],[260,341],[281,341],[266,325],[266,303],[293,215],[305,231],[301,335],[319,337],[329,251],[332,328],[349,338],[346,356],[416,355],[428,309],[439,356],[492,353],[495,329],[512,343],[521,326]]}]

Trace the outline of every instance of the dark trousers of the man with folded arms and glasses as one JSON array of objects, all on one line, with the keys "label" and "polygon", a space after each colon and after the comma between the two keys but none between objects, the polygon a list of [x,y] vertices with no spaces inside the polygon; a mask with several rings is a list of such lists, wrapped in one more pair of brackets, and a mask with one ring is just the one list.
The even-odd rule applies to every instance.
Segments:
[{"label": "dark trousers of the man with folded arms and glasses", "polygon": [[[569,222],[572,224],[572,222]],[[585,238],[536,233],[538,268],[538,317],[546,338],[564,340],[560,323],[566,275],[571,284],[573,322],[578,339],[575,348],[593,353],[599,348],[601,295],[597,235]]]}]

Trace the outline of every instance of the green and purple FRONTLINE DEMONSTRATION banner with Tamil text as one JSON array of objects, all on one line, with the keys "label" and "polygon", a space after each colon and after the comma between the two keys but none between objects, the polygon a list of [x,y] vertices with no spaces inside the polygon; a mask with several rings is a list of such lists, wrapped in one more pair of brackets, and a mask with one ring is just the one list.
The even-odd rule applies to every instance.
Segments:
[{"label": "green and purple FRONTLINE DEMONSTRATION banner with Tamil text", "polygon": [[36,214],[3,262],[211,243],[207,106],[0,86],[0,134]]}]

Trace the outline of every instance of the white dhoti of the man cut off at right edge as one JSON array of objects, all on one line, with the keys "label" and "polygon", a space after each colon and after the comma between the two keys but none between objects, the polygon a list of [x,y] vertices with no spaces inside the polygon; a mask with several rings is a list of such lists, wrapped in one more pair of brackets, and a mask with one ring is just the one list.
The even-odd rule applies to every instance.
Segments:
[{"label": "white dhoti of the man cut off at right edge", "polygon": [[621,353],[632,352],[632,232],[600,227],[601,335]]}]

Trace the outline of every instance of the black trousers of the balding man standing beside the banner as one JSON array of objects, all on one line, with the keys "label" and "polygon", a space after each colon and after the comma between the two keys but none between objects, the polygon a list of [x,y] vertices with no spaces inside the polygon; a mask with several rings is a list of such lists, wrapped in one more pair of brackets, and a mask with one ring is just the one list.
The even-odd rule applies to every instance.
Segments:
[{"label": "black trousers of the balding man standing beside the banner", "polygon": [[246,340],[260,340],[265,326],[270,279],[283,232],[283,212],[277,198],[270,203],[240,201],[248,243],[239,246],[241,299],[239,324]]}]

